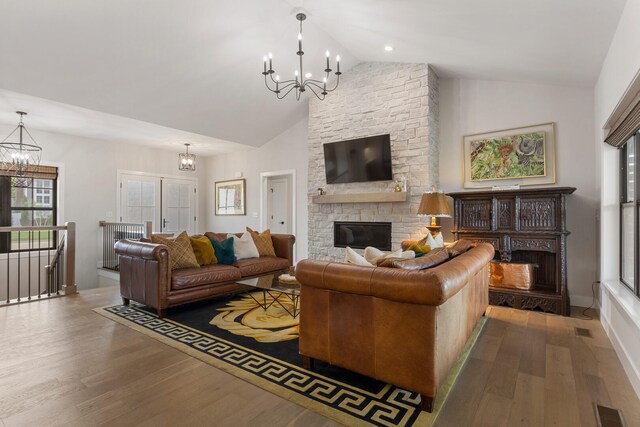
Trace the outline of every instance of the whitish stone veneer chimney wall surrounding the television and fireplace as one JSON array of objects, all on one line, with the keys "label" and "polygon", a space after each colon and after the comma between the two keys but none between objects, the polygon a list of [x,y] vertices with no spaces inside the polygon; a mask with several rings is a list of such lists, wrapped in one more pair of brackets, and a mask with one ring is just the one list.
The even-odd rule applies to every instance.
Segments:
[{"label": "whitish stone veneer chimney wall surrounding the television and fireplace", "polygon": [[[324,101],[309,102],[309,258],[342,260],[333,247],[334,221],[392,222],[392,248],[426,233],[416,215],[422,193],[438,184],[438,76],[428,64],[362,63],[344,73]],[[407,178],[402,203],[314,204],[327,194],[393,191],[391,181],[327,185],[322,144],[391,135],[394,178]]]}]

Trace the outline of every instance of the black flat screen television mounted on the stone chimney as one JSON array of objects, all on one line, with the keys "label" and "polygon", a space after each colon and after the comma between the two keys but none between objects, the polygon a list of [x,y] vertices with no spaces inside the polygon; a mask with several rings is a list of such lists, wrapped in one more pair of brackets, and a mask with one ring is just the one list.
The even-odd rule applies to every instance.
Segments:
[{"label": "black flat screen television mounted on the stone chimney", "polygon": [[389,134],[330,142],[323,148],[327,184],[393,179]]}]

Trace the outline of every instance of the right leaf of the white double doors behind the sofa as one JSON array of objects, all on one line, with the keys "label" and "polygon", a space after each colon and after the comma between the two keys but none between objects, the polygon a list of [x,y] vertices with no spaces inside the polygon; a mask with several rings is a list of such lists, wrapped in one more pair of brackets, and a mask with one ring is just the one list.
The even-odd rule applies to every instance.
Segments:
[{"label": "right leaf of the white double doors behind the sofa", "polygon": [[163,178],[161,231],[174,234],[186,231],[189,235],[194,234],[195,200],[194,181]]}]

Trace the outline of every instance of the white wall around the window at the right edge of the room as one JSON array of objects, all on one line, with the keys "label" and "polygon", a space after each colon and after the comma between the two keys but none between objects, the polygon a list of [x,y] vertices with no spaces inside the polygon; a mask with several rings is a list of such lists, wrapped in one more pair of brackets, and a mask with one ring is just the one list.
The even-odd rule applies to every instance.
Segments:
[{"label": "white wall around the window at the right edge of the room", "polygon": [[[595,152],[601,194],[600,321],[640,396],[640,300],[619,283],[619,153],[603,144],[603,127],[640,72],[640,0],[627,0],[595,87]],[[637,254],[636,254],[637,257]]]}]

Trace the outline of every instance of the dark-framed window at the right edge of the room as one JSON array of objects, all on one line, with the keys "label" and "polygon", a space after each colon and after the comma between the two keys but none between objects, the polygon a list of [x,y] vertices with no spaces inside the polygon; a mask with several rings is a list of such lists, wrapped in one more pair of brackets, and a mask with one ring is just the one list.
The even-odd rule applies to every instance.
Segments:
[{"label": "dark-framed window at the right edge of the room", "polygon": [[640,295],[638,273],[638,235],[640,231],[637,197],[637,155],[640,132],[629,138],[620,150],[620,280]]}]

